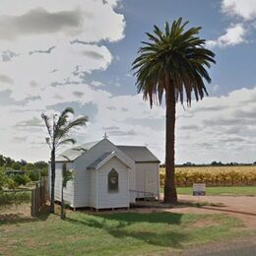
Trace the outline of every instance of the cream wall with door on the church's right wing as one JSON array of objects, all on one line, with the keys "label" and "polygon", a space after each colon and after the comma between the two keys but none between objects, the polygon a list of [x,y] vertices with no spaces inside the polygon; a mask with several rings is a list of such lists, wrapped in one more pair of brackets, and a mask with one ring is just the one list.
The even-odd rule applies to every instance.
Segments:
[{"label": "cream wall with door on the church's right wing", "polygon": [[[136,162],[136,189],[142,192],[153,193],[155,197],[160,196],[160,164],[158,162]],[[136,197],[143,198],[143,193]]]}]

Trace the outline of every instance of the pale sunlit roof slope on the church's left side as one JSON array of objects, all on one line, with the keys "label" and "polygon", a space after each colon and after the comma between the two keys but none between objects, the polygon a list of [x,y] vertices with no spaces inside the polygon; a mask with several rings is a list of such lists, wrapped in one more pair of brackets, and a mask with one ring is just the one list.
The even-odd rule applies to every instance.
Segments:
[{"label": "pale sunlit roof slope on the church's left side", "polygon": [[69,150],[64,151],[62,154],[58,155],[56,157],[56,161],[73,161],[91,150],[93,147],[96,146],[97,143],[100,141],[96,142],[89,142],[82,144],[81,146],[77,146],[74,148],[71,148]]}]

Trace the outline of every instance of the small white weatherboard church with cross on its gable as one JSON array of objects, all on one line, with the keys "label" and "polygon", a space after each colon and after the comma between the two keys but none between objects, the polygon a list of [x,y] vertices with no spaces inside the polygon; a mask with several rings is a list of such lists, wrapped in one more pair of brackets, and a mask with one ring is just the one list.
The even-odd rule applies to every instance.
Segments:
[{"label": "small white weatherboard church with cross on its gable", "polygon": [[[115,146],[104,138],[65,151],[56,158],[56,201],[64,163],[74,171],[64,188],[64,200],[74,209],[128,208],[136,199],[160,197],[160,160],[147,147]],[[50,184],[50,169],[48,177]]]}]

